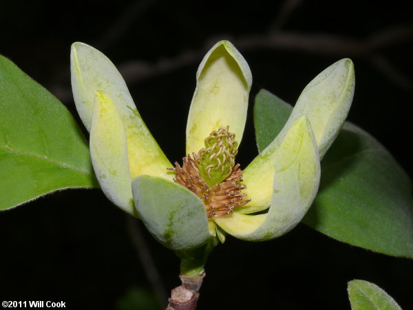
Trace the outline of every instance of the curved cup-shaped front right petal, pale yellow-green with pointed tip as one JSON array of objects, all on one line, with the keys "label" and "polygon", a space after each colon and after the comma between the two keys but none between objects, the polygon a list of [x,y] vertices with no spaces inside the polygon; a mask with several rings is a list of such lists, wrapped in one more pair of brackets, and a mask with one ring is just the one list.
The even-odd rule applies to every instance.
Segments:
[{"label": "curved cup-shaped front right petal, pale yellow-green with pointed tip", "polygon": [[320,163],[317,143],[305,116],[287,132],[275,152],[273,198],[267,214],[236,212],[215,217],[227,233],[249,241],[277,238],[293,229],[306,214],[317,194]]}]

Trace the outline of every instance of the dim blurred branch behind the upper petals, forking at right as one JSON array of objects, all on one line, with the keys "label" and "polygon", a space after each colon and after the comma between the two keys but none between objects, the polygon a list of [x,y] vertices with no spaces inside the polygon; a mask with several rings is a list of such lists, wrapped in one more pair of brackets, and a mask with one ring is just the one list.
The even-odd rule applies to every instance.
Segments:
[{"label": "dim blurred branch behind the upper petals, forking at right", "polygon": [[[146,61],[128,61],[118,66],[128,84],[139,83],[162,74],[176,71],[187,65],[197,63],[220,39],[229,39],[242,52],[258,49],[284,50],[323,54],[328,56],[366,59],[374,68],[385,74],[394,85],[412,94],[412,79],[403,76],[384,56],[377,56],[379,50],[399,43],[412,41],[413,25],[386,28],[366,39],[351,39],[332,34],[275,31],[268,34],[250,34],[240,37],[220,35],[205,41],[199,50],[187,51],[178,56],[163,58],[156,63]],[[72,93],[66,87],[50,87],[50,90],[63,102],[71,101]]]}]

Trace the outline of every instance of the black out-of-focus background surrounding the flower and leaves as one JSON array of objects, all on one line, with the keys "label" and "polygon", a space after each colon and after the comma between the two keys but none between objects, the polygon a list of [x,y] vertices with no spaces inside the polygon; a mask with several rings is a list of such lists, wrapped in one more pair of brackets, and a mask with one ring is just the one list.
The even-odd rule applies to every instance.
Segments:
[{"label": "black out-of-focus background surrounding the flower and leaves", "polygon": [[[253,72],[251,111],[237,156],[242,167],[257,154],[255,94],[264,87],[295,103],[321,70],[350,57],[357,82],[348,118],[413,175],[409,1],[193,2],[3,1],[0,53],[76,115],[70,44],[98,48],[120,68],[142,118],[176,161],[184,155],[198,64],[213,43],[229,39]],[[147,249],[131,240],[130,227],[138,227]],[[0,240],[1,300],[156,309],[149,267],[138,251],[153,257],[167,295],[178,285],[178,258],[138,220],[131,225],[99,190],[58,192],[1,212]],[[413,309],[412,260],[352,247],[305,225],[271,242],[228,237],[209,258],[198,309],[350,309],[346,284],[354,278],[376,283],[403,309]]]}]

